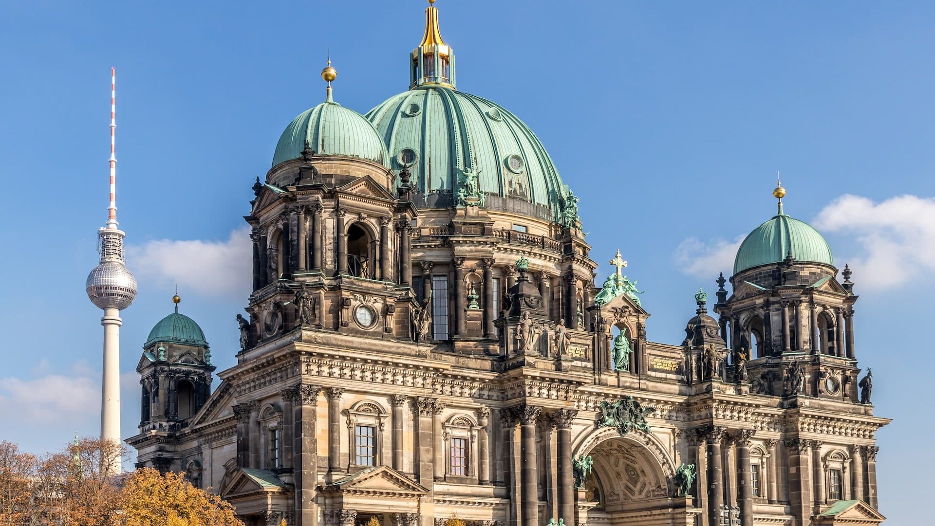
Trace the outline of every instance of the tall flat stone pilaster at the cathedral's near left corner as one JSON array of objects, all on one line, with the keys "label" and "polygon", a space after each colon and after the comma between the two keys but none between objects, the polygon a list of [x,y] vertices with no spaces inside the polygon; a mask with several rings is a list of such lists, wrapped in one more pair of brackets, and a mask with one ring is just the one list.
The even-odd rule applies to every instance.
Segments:
[{"label": "tall flat stone pilaster at the cathedral's near left corner", "polygon": [[295,476],[296,526],[315,526],[318,505],[315,487],[318,486],[318,393],[322,388],[297,385],[293,397],[293,473]]}]

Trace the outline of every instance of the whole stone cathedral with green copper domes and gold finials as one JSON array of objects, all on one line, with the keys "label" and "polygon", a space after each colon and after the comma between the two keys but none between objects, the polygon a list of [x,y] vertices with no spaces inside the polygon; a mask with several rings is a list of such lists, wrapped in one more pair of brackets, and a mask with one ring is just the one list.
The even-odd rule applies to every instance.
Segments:
[{"label": "whole stone cathedral with green copper domes and gold finials", "polygon": [[591,254],[523,121],[457,91],[424,14],[407,91],[357,113],[329,63],[256,178],[217,389],[194,320],[152,329],[137,466],[249,525],[882,522],[851,272],[782,186],[684,340],[651,341],[621,254]]}]

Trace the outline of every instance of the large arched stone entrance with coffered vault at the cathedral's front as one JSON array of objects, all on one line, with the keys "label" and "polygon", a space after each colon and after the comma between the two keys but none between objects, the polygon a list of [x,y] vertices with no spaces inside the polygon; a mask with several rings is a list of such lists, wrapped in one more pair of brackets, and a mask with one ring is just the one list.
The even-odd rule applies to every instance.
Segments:
[{"label": "large arched stone entrance with coffered vault at the cathedral's front", "polygon": [[701,513],[691,499],[676,496],[674,465],[651,434],[598,430],[576,449],[592,461],[592,471],[578,490],[576,524],[694,524]]}]

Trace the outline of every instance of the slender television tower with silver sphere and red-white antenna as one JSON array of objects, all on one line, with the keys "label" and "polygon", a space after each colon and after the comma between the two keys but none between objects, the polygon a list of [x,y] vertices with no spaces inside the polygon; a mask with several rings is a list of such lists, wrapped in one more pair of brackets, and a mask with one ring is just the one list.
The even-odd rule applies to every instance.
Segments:
[{"label": "slender television tower with silver sphere and red-white antenna", "polygon": [[[114,155],[115,120],[114,68],[110,68],[110,203],[108,222],[97,230],[97,251],[100,264],[88,275],[88,297],[98,308],[104,309],[104,374],[101,386],[101,438],[120,444],[120,311],[130,306],[137,297],[137,279],[123,264],[123,232],[117,228],[117,205],[114,181],[117,177],[117,158]],[[121,471],[120,459],[111,466]]]}]

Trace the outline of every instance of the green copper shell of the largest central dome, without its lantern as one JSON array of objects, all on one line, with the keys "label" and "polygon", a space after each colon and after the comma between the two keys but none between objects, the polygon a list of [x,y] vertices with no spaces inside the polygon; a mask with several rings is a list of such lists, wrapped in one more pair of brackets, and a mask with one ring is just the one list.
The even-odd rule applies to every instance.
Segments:
[{"label": "green copper shell of the largest central dome, without its lantern", "polygon": [[[443,85],[418,86],[386,99],[366,114],[391,155],[404,165],[411,149],[412,180],[423,193],[453,192],[465,168],[480,170],[482,192],[549,206],[559,218],[562,179],[532,130],[504,107]],[[518,156],[519,169],[511,169]]]}]

